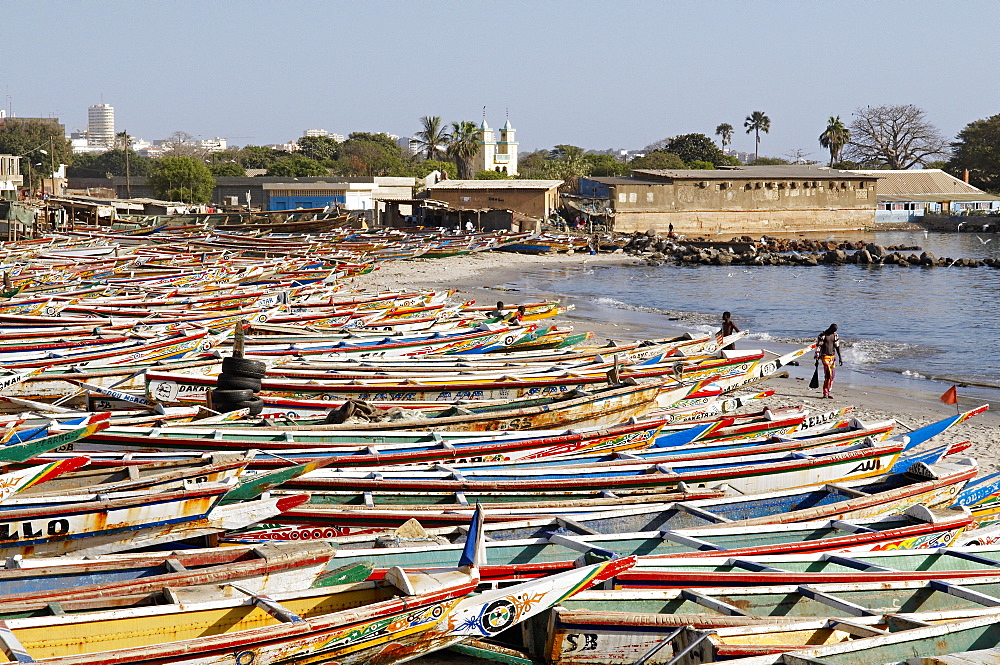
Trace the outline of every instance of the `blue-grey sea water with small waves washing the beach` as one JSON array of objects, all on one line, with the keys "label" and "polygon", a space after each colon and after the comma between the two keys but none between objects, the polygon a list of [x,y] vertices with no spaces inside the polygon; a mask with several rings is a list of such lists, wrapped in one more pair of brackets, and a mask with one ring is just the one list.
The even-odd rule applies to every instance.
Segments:
[{"label": "blue-grey sea water with small waves washing the beach", "polygon": [[[873,238],[938,257],[1000,257],[1000,234]],[[567,296],[584,319],[620,325],[623,339],[638,329],[714,331],[728,310],[751,331],[753,345],[780,349],[811,342],[836,323],[851,372],[894,383],[968,383],[973,392],[1000,397],[1000,270],[994,268],[584,264],[529,272],[516,287]]]}]

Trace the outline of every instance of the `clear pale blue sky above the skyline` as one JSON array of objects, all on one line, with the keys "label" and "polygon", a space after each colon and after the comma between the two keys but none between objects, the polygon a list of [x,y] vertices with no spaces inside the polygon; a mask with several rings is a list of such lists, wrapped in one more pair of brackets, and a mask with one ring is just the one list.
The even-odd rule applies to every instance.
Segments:
[{"label": "clear pale blue sky above the skyline", "polygon": [[762,110],[762,154],[822,160],[827,117],[858,106],[915,104],[947,136],[1000,113],[995,0],[0,0],[0,17],[3,108],[73,129],[103,95],[150,140],[410,135],[486,106],[494,127],[510,109],[522,150],[728,122],[752,151]]}]

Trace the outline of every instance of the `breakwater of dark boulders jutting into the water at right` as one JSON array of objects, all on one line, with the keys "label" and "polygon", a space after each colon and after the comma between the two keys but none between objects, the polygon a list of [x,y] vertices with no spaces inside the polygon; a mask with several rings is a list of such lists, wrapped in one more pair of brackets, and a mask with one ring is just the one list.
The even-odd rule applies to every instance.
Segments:
[{"label": "breakwater of dark boulders jutting into the water at right", "polygon": [[656,235],[637,235],[625,251],[648,265],[819,266],[893,265],[901,267],[1000,268],[1000,259],[938,257],[920,247],[883,247],[872,242],[835,242],[763,238],[735,238],[730,242],[698,239],[691,242]]}]

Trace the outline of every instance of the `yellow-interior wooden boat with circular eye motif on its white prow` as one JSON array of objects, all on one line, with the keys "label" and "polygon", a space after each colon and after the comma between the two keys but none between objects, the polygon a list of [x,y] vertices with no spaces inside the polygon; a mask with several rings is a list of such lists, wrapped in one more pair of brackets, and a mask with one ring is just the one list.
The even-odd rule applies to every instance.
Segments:
[{"label": "yellow-interior wooden boat with circular eye motif on its white prow", "polygon": [[[35,662],[52,665],[211,665],[232,663],[234,657],[237,663],[255,664],[321,660],[389,664],[470,637],[496,635],[610,578],[633,560],[471,595],[479,563],[472,541],[457,570],[436,574],[396,570],[383,581],[270,597],[250,591],[241,591],[245,595],[239,598],[226,598],[217,591],[184,591],[176,593],[180,603],[176,605],[11,619],[4,637]],[[53,639],[67,634],[86,639],[73,643]]]}]

